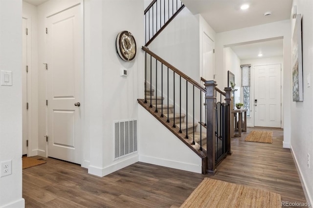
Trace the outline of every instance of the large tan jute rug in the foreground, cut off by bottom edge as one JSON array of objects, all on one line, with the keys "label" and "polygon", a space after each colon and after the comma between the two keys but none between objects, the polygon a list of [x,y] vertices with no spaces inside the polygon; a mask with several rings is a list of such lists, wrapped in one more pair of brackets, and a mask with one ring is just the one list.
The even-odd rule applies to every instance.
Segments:
[{"label": "large tan jute rug in the foreground, cut off by bottom edge", "polygon": [[205,178],[181,208],[281,208],[281,195]]}]

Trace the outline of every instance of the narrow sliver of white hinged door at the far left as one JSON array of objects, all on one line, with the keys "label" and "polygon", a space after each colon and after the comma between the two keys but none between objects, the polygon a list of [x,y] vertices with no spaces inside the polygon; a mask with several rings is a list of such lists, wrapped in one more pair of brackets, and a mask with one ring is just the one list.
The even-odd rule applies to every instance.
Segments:
[{"label": "narrow sliver of white hinged door at the far left", "polygon": [[22,18],[22,154],[27,154],[28,109],[27,109],[27,19]]}]

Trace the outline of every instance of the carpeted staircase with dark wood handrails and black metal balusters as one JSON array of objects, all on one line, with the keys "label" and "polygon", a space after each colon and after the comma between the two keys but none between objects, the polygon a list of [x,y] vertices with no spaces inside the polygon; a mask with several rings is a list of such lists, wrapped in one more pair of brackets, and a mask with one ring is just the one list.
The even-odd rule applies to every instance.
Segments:
[{"label": "carpeted staircase with dark wood handrails and black metal balusters", "polygon": [[153,0],[144,12],[145,95],[138,103],[201,158],[203,174],[214,174],[215,166],[231,152],[231,89],[222,91],[214,81],[201,79],[202,85],[147,48],[184,8],[180,0],[166,2]]}]

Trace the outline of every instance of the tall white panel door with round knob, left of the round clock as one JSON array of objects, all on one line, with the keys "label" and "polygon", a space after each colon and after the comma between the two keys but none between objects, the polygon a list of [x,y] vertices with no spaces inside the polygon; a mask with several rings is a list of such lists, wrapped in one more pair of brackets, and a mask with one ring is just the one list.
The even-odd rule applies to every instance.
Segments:
[{"label": "tall white panel door with round knob, left of the round clock", "polygon": [[80,5],[47,17],[48,157],[81,164]]}]

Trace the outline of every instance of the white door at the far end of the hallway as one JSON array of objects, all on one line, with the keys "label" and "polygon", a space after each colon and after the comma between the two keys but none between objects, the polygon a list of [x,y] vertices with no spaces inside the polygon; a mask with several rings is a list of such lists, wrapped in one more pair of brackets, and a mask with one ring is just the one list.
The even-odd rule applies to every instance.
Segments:
[{"label": "white door at the far end of the hallway", "polygon": [[281,127],[281,65],[254,66],[254,125]]}]

